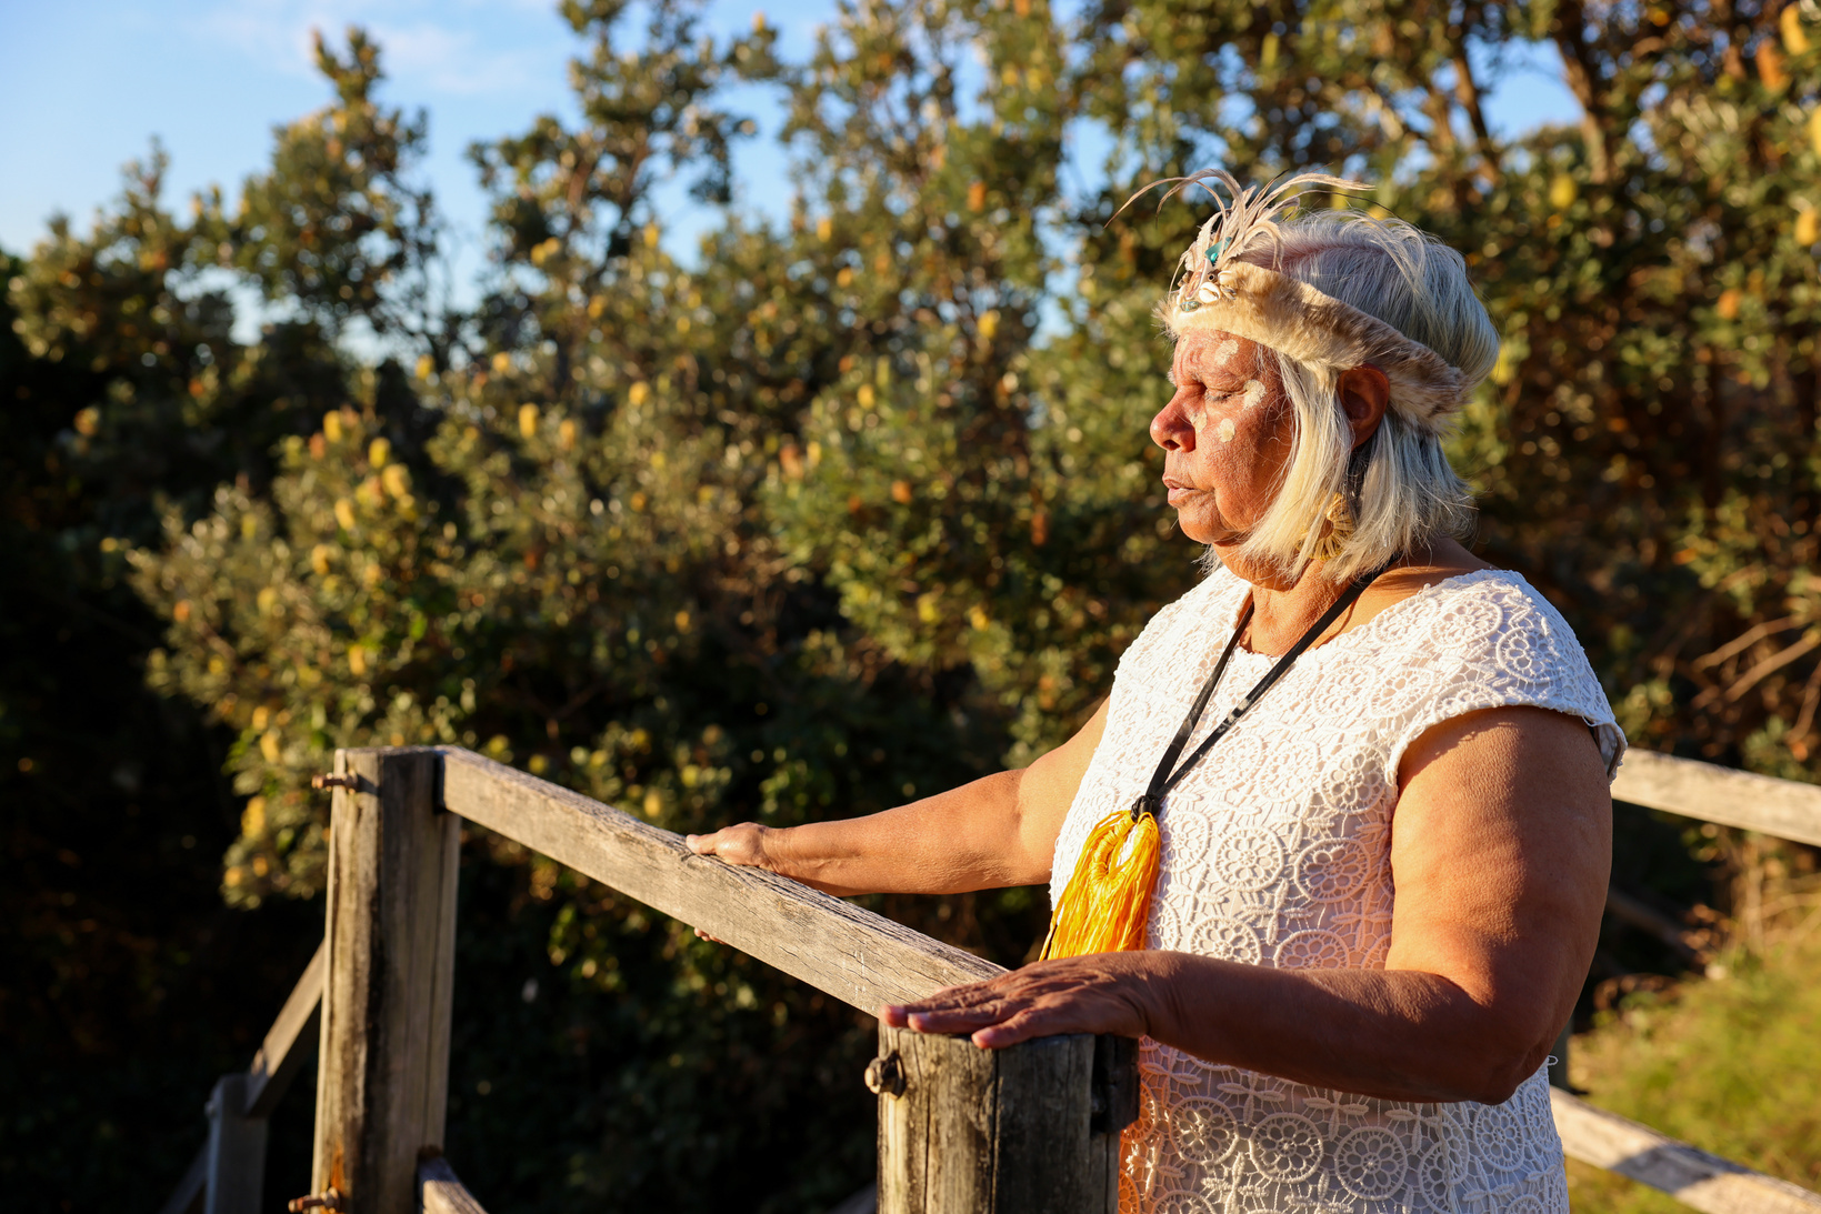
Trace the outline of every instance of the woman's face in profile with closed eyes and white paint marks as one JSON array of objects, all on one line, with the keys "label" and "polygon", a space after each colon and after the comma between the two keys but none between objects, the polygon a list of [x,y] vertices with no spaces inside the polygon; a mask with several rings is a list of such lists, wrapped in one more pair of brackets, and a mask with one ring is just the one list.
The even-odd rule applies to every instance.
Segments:
[{"label": "woman's face in profile with closed eyes and white paint marks", "polygon": [[1277,360],[1244,337],[1189,333],[1169,369],[1175,393],[1151,419],[1182,533],[1216,548],[1246,539],[1277,495],[1291,406]]}]

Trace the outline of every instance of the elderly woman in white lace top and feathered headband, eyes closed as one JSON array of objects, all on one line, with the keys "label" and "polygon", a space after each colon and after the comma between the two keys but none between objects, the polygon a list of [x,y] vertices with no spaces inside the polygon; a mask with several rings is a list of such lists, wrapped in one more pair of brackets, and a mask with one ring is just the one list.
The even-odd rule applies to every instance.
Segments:
[{"label": "elderly woman in white lace top and feathered headband, eyes closed", "polygon": [[1338,182],[1216,177],[1151,419],[1207,577],[1029,768],[690,845],[830,894],[1056,901],[1091,832],[1149,815],[1140,946],[881,1016],[985,1048],[1142,1037],[1125,1210],[1564,1212],[1544,1056],[1593,952],[1624,739],[1555,608],[1455,539],[1444,426],[1497,335],[1413,228],[1289,217]]}]

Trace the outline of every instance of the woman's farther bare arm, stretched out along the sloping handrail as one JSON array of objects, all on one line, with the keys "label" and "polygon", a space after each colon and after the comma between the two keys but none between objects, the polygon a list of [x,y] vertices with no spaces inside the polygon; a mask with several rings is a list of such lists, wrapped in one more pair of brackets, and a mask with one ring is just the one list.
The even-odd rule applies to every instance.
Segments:
[{"label": "woman's farther bare arm, stretched out along the sloping handrail", "polygon": [[756,865],[829,894],[960,894],[1049,879],[1062,819],[1107,724],[1080,732],[1016,772],[1000,772],[896,810],[834,823],[758,823],[690,835],[697,855]]}]

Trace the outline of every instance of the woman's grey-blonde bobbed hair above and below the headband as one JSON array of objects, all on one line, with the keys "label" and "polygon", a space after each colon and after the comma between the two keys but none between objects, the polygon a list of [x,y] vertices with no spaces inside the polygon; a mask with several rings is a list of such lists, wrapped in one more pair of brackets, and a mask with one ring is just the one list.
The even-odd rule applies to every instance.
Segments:
[{"label": "woman's grey-blonde bobbed hair above and below the headband", "polygon": [[[1280,226],[1273,246],[1242,260],[1275,269],[1384,320],[1479,384],[1499,359],[1499,333],[1468,282],[1466,260],[1437,238],[1397,218],[1320,211]],[[1366,351],[1366,362],[1375,360]],[[1293,413],[1291,455],[1277,497],[1242,546],[1249,559],[1300,577],[1324,533],[1335,493],[1348,502],[1353,531],[1324,573],[1337,582],[1373,570],[1442,535],[1464,539],[1473,497],[1442,451],[1446,422],[1411,420],[1391,408],[1358,450],[1340,404],[1344,366],[1291,359],[1264,348],[1278,368]],[[1389,355],[1389,351],[1388,351]],[[1218,559],[1209,550],[1206,561]]]}]

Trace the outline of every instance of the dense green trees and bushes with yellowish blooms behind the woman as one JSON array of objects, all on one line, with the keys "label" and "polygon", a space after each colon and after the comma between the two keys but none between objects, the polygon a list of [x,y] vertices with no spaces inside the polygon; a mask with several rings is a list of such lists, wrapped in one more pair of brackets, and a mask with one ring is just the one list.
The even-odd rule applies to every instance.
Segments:
[{"label": "dense green trees and bushes with yellowish blooms behind the woman", "polygon": [[[69,814],[166,846],[215,795],[149,724],[55,706],[91,666],[220,739],[239,832],[189,830],[188,879],[224,852],[255,919],[320,888],[308,775],[335,746],[466,744],[688,830],[861,814],[1054,744],[1195,577],[1145,422],[1151,304],[1198,213],[1107,220],[1216,160],[1366,175],[1468,253],[1508,342],[1457,444],[1482,551],[1568,612],[1633,741],[1814,770],[1821,31],[1796,9],[869,2],[805,64],[679,2],[563,11],[581,120],[473,149],[495,262],[472,309],[439,289],[424,122],[361,35],[239,200],[182,218],[153,164],[13,266],[5,526],[42,599],[5,615],[15,868]],[[1479,96],[1528,42],[1586,120],[1504,138]],[[734,86],[783,96],[792,218],[717,211],[683,260],[654,189],[730,197]],[[262,328],[235,328],[237,286]],[[44,619],[56,593],[137,632]],[[133,639],[148,610],[162,642]],[[55,628],[84,659],[53,677],[29,646]],[[109,792],[115,733],[171,774]],[[503,841],[464,883],[450,1150],[483,1198],[814,1209],[863,1181],[867,1021]],[[80,897],[18,919],[33,965],[87,956]],[[1014,963],[1042,901],[880,905]],[[89,952],[188,981],[157,959],[208,917],[184,914]],[[38,979],[5,981],[0,1012],[51,1034]],[[157,999],[122,999],[158,1032]],[[104,1192],[7,1118],[9,1183]]]}]

